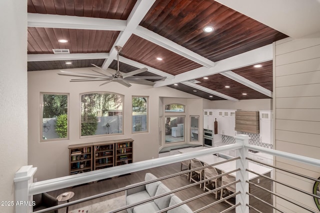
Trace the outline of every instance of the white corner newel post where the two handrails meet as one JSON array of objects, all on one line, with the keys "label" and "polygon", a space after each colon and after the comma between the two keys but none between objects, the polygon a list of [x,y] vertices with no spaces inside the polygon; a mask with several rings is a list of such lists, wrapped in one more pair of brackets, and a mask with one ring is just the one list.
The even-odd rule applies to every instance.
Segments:
[{"label": "white corner newel post where the two handrails meet", "polygon": [[[249,143],[249,136],[247,135],[236,135],[234,139],[236,144],[245,145]],[[248,157],[248,149],[245,149],[244,146],[237,149],[236,157],[241,159],[236,160],[236,168],[240,168],[240,171],[236,172],[236,180],[240,180],[240,182],[236,183],[235,188],[236,192],[240,191],[241,194],[235,196],[235,204],[240,203],[241,205],[236,207],[235,212],[249,213],[249,207],[246,206],[246,204],[249,204],[249,196],[246,194],[246,192],[249,192],[249,184],[245,182],[249,178],[248,171],[246,171],[248,160],[245,159]]]}]

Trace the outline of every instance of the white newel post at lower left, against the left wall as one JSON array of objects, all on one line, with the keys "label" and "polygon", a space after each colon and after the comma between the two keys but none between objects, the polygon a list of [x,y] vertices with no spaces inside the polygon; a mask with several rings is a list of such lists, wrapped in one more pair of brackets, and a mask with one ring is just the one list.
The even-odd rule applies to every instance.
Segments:
[{"label": "white newel post at lower left, against the left wall", "polygon": [[29,184],[33,183],[36,167],[23,166],[14,175],[15,213],[32,212],[32,196],[29,196]]}]

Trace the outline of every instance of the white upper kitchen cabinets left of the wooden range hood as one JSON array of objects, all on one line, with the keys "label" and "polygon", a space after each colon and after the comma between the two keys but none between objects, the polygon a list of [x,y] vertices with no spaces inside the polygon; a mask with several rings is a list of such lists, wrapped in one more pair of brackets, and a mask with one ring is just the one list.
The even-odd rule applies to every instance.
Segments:
[{"label": "white upper kitchen cabinets left of the wooden range hood", "polygon": [[218,110],[218,134],[235,136],[235,110]]}]

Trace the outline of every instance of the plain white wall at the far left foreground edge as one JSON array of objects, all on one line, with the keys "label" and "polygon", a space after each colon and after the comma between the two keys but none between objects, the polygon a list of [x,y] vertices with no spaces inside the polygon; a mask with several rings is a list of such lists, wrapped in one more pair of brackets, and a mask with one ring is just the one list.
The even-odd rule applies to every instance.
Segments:
[{"label": "plain white wall at the far left foreground edge", "polygon": [[14,173],[27,165],[26,22],[26,1],[0,1],[0,201],[14,201]]}]

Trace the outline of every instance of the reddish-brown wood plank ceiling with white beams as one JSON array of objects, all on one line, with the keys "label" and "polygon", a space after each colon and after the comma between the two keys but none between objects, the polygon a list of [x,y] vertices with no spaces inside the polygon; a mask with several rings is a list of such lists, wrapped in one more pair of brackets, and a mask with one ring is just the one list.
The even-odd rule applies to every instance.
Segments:
[{"label": "reddish-brown wood plank ceiling with white beams", "polygon": [[[181,82],[175,82],[177,85],[167,80],[163,86],[208,100],[272,97],[272,58],[264,62],[257,61],[262,65],[260,68],[253,68],[251,62],[228,70],[212,70],[215,63],[232,61],[233,56],[256,51],[287,35],[214,0],[152,2],[153,0],[28,0],[29,14],[53,15],[44,16],[44,19],[49,18],[41,20],[44,22],[42,25],[33,19],[29,21],[28,18],[28,71],[90,67],[91,63],[116,69],[116,58],[112,51],[114,52],[115,45],[122,42],[122,72],[147,66],[149,72],[138,75],[160,75],[171,79],[180,79],[181,75],[192,76],[182,77]],[[147,4],[150,6],[146,7]],[[141,11],[145,13],[139,19]],[[88,19],[80,19],[84,17]],[[55,21],[49,22],[51,19]],[[94,23],[101,19],[111,23],[105,23],[104,27],[108,27],[107,29],[101,29],[98,24],[95,26]],[[72,25],[82,23],[83,20],[91,21],[90,26]],[[113,23],[122,23],[121,20],[126,20],[123,23],[131,25],[118,28],[114,26]],[[213,27],[213,32],[205,33],[204,26]],[[66,39],[68,42],[60,43],[59,39]],[[63,54],[55,59],[52,49],[69,49],[74,57],[84,53],[87,58],[81,55],[78,59],[68,59],[67,54]],[[94,53],[109,55],[94,58]],[[157,57],[162,60],[156,60]],[[203,79],[203,76],[208,79]],[[185,83],[192,79],[199,83]]]}]

